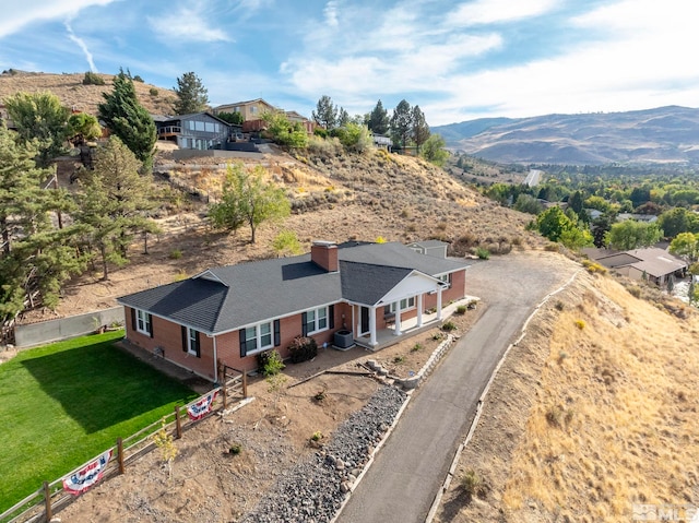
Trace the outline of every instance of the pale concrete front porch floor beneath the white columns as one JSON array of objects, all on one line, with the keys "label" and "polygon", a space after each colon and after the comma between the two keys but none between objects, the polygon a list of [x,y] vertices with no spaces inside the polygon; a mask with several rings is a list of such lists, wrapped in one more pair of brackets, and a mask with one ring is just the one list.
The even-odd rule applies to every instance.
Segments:
[{"label": "pale concrete front porch floor beneath the white columns", "polygon": [[435,312],[423,312],[422,321],[419,321],[418,316],[416,316],[414,318],[402,320],[398,330],[398,325],[395,323],[386,325],[382,329],[377,329],[375,335],[375,344],[372,344],[370,332],[367,332],[359,336],[355,336],[354,341],[362,347],[368,348],[370,350],[380,350],[382,348],[400,343],[405,338],[419,334],[420,332],[440,325],[442,321],[445,321],[455,312],[458,307],[475,306],[475,304],[479,301],[479,299],[481,298],[477,298],[475,296],[465,296],[464,298],[449,304],[443,308],[437,308]]}]

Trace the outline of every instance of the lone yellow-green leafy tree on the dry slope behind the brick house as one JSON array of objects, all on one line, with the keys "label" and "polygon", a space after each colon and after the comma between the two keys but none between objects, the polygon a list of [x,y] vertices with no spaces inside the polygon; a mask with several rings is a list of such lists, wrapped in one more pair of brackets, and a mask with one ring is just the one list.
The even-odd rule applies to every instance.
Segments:
[{"label": "lone yellow-green leafy tree on the dry slope behind the brick house", "polygon": [[250,226],[251,242],[260,224],[288,216],[291,205],[284,190],[264,181],[266,170],[258,165],[247,170],[240,162],[228,165],[221,202],[209,215],[216,228],[235,233],[244,224]]}]

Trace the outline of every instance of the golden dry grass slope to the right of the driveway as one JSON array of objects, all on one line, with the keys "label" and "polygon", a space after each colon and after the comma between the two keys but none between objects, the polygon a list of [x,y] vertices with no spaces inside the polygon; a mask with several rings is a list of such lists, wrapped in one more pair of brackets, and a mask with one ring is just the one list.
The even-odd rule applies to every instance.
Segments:
[{"label": "golden dry grass slope to the right of the driveway", "polygon": [[632,503],[699,504],[698,334],[696,313],[579,275],[510,353],[459,464],[476,479],[451,484],[437,521],[621,522]]}]

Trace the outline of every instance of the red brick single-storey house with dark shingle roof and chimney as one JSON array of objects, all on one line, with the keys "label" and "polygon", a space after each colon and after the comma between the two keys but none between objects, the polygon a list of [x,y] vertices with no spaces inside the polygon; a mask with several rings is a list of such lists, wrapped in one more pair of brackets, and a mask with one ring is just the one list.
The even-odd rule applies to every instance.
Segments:
[{"label": "red brick single-storey house with dark shingle roof and chimney", "polygon": [[215,381],[217,361],[251,370],[256,354],[287,357],[300,335],[332,344],[342,330],[358,345],[388,345],[408,319],[441,320],[442,304],[465,296],[466,266],[398,242],[316,241],[309,254],[210,269],[118,302],[130,343]]}]

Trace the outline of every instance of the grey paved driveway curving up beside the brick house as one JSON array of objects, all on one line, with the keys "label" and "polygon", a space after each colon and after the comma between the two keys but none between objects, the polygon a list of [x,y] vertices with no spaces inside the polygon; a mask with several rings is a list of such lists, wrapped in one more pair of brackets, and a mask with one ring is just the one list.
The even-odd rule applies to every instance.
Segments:
[{"label": "grey paved driveway curving up beside the brick house", "polygon": [[469,269],[466,294],[479,296],[487,310],[411,400],[339,523],[425,521],[502,353],[532,309],[573,270],[548,253],[511,254]]}]

